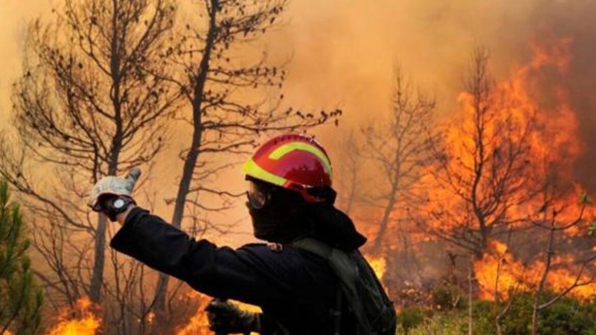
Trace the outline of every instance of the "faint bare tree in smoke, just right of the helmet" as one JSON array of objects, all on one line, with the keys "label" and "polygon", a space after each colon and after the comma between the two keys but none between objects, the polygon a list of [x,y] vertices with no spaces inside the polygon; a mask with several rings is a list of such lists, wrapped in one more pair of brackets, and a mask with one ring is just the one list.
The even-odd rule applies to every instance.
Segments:
[{"label": "faint bare tree in smoke, just right of the helmet", "polygon": [[382,203],[382,215],[372,247],[374,253],[380,251],[389,223],[395,219],[392,215],[396,207],[406,207],[408,201],[415,201],[413,189],[433,158],[430,148],[436,137],[435,99],[412,89],[399,66],[394,77],[389,120],[363,129],[365,156],[378,166],[382,184],[380,196],[375,199],[376,203]]}]

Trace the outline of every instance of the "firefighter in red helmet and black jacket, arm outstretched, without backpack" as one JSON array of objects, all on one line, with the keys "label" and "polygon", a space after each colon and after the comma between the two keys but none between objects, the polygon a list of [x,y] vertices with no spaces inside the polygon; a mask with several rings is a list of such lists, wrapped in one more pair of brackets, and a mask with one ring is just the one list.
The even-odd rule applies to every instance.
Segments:
[{"label": "firefighter in red helmet and black jacket, arm outstretched, without backpack", "polygon": [[[220,298],[207,308],[218,333],[355,333],[353,318],[337,318],[348,312],[345,304],[338,306],[338,279],[327,260],[292,244],[311,237],[349,252],[366,241],[333,206],[324,148],[306,135],[281,135],[261,145],[243,171],[254,236],[268,243],[234,250],[194,240],[137,206],[131,193],[139,170],[101,179],[89,206],[122,225],[112,248]],[[242,311],[225,299],[259,306],[262,313]]]}]

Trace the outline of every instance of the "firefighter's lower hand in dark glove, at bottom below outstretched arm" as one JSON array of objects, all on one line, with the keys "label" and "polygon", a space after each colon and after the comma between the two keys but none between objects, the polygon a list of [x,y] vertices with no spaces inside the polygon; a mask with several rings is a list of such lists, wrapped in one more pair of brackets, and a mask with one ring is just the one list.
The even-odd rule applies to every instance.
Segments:
[{"label": "firefighter's lower hand in dark glove, at bottom below outstretched arm", "polygon": [[260,332],[259,315],[243,311],[231,302],[213,299],[205,308],[209,329],[216,334],[249,334]]}]

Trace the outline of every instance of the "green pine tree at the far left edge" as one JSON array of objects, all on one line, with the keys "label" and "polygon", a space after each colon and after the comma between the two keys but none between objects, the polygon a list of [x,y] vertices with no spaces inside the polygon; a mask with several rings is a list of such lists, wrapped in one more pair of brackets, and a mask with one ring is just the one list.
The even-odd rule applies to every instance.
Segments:
[{"label": "green pine tree at the far left edge", "polygon": [[39,330],[44,296],[33,281],[27,256],[29,240],[8,182],[0,179],[0,334],[33,334]]}]

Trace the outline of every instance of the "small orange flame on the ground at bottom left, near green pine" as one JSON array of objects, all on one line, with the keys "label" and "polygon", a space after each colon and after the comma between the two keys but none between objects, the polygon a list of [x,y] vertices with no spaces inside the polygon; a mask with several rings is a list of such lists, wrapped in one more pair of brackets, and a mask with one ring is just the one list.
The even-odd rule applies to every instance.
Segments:
[{"label": "small orange flame on the ground at bottom left, near green pine", "polygon": [[[76,302],[74,311],[63,310],[58,317],[58,324],[49,331],[49,335],[93,335],[100,328],[101,319],[91,309],[93,304],[88,297]],[[78,315],[73,318],[72,315]]]}]

